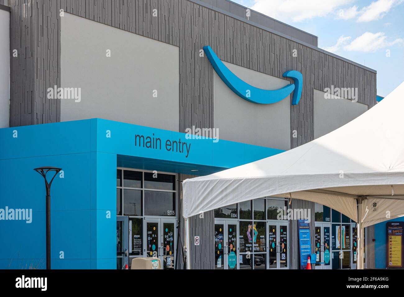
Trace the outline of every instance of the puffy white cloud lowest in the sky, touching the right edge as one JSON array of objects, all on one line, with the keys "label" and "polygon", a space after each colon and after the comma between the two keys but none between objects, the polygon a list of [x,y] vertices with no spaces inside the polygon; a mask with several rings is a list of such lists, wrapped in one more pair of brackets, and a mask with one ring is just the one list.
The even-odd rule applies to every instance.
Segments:
[{"label": "puffy white cloud lowest in the sky, touching the right edge", "polygon": [[344,50],[356,52],[374,52],[381,48],[392,46],[393,44],[402,44],[403,40],[398,38],[393,41],[387,41],[387,36],[383,32],[370,33],[365,32],[361,36],[352,40],[350,44],[344,46]]}]

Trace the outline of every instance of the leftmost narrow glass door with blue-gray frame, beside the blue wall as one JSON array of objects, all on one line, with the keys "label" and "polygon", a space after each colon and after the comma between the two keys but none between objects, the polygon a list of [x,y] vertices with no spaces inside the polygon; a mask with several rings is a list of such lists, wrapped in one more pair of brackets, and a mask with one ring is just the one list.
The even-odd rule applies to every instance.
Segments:
[{"label": "leftmost narrow glass door with blue-gray frame, beside the blue wall", "polygon": [[116,269],[129,268],[128,223],[129,217],[123,215],[116,216]]}]

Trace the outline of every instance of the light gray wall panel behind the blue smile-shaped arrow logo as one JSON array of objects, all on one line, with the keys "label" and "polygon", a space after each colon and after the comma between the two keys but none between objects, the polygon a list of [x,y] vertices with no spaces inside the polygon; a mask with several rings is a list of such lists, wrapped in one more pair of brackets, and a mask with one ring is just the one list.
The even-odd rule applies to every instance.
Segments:
[{"label": "light gray wall panel behind the blue smile-shaped arrow logo", "polygon": [[[273,77],[226,63],[235,75],[257,88],[275,90],[290,84]],[[231,91],[214,72],[214,122],[219,138],[283,150],[290,149],[290,103],[288,96],[273,104],[256,104]]]}]

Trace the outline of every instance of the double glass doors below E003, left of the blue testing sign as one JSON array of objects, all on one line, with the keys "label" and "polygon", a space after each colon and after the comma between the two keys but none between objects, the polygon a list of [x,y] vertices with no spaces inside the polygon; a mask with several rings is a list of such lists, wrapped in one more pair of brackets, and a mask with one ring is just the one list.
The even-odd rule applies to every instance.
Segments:
[{"label": "double glass doors below E003, left of the blue testing sign", "polygon": [[270,221],[268,224],[268,268],[289,268],[289,222]]}]

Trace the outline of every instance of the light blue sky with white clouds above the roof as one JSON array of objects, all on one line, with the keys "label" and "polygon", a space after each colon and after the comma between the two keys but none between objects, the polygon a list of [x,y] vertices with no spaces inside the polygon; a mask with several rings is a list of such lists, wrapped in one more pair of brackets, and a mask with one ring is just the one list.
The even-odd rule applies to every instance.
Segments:
[{"label": "light blue sky with white clouds above the roof", "polygon": [[318,46],[377,71],[377,94],[404,81],[404,0],[233,0],[318,36]]}]

